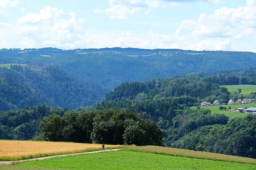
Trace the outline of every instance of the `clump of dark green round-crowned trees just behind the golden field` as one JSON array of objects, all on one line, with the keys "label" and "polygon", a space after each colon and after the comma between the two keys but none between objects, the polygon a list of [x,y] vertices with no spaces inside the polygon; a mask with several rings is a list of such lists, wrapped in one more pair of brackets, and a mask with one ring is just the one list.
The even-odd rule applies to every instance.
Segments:
[{"label": "clump of dark green round-crowned trees just behind the golden field", "polygon": [[162,145],[162,131],[154,121],[130,110],[69,111],[45,117],[36,139],[78,143]]}]

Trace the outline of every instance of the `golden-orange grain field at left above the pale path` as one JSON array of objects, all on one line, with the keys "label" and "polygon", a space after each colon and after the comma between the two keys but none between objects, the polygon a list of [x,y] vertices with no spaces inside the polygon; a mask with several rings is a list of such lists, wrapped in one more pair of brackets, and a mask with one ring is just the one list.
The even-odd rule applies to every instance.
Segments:
[{"label": "golden-orange grain field at left above the pale path", "polygon": [[[121,147],[124,146],[105,145],[105,149]],[[0,140],[0,161],[22,160],[100,149],[102,149],[100,144]]]}]

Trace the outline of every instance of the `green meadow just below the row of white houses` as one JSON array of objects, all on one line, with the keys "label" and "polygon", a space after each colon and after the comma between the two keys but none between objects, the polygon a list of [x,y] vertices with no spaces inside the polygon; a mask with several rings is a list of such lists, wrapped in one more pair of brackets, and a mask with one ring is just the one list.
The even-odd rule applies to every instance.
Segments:
[{"label": "green meadow just below the row of white houses", "polygon": [[[231,104],[231,105],[220,105],[223,107],[228,107],[230,106],[231,109],[236,109],[238,107],[256,107],[256,103],[250,103],[250,104]],[[229,110],[220,110],[220,106],[200,106],[202,109],[210,109],[212,113],[223,113],[224,115],[230,116],[230,119],[234,117],[244,117],[248,115],[249,113],[240,113],[240,112],[234,112],[234,111],[229,111]],[[191,107],[192,109],[196,109],[196,107]]]}]

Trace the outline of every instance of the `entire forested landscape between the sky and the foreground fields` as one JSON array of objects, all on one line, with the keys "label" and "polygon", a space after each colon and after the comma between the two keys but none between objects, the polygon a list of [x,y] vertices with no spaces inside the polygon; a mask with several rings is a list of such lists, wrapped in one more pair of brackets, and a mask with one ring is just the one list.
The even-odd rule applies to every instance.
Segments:
[{"label": "entire forested landscape between the sky and the foreground fields", "polygon": [[256,158],[255,115],[229,119],[190,108],[243,98],[221,85],[255,85],[255,61],[255,53],[227,51],[1,49],[0,139],[164,145]]}]

